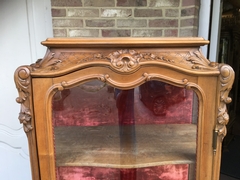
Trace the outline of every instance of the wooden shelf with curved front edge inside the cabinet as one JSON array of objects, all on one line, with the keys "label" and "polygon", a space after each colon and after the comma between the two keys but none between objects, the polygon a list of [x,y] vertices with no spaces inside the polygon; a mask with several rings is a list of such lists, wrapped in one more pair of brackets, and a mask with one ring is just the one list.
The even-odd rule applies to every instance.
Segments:
[{"label": "wooden shelf with curved front edge inside the cabinet", "polygon": [[57,166],[142,168],[194,164],[195,124],[55,127]]}]

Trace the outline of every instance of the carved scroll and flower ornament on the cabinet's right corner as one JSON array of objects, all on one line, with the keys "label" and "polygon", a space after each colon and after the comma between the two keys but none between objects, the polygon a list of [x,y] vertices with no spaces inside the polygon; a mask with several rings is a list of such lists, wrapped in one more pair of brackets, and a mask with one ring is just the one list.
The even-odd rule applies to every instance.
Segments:
[{"label": "carved scroll and flower ornament on the cabinet's right corner", "polygon": [[234,81],[234,71],[233,69],[225,64],[220,64],[219,66],[220,70],[220,103],[218,107],[218,116],[217,116],[217,125],[216,125],[216,131],[218,132],[218,135],[223,138],[227,134],[227,128],[226,125],[229,121],[229,115],[227,112],[227,104],[232,101],[230,97],[228,97],[228,94],[232,88],[232,84]]}]

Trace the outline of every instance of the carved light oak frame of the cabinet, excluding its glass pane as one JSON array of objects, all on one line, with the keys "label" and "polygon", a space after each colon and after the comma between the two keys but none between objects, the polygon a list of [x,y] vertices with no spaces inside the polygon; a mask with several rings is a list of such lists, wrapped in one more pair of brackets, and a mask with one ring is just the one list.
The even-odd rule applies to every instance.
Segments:
[{"label": "carved light oak frame of the cabinet, excluding its glass pane", "polygon": [[[132,89],[160,80],[192,89],[199,100],[196,179],[217,180],[234,80],[232,68],[206,59],[202,38],[47,39],[43,59],[19,67],[19,119],[28,135],[33,179],[56,179],[51,104],[55,92],[98,79]],[[179,126],[180,128],[180,126]],[[215,136],[214,136],[215,135]],[[39,168],[38,168],[39,164]]]}]

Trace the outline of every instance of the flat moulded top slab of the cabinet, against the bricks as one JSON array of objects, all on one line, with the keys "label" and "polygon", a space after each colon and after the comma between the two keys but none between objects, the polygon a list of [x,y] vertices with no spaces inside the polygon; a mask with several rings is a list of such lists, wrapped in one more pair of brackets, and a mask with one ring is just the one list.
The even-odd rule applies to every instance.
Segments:
[{"label": "flat moulded top slab of the cabinet, against the bricks", "polygon": [[209,44],[201,37],[185,38],[48,38],[47,47],[196,47]]}]

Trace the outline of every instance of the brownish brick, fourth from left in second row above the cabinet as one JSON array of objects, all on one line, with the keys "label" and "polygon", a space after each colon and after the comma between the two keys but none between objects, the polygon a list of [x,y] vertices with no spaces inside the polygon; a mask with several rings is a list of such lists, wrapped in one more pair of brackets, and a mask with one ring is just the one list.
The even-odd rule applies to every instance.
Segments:
[{"label": "brownish brick, fourth from left in second row above the cabinet", "polygon": [[149,20],[149,27],[178,27],[177,19]]}]

